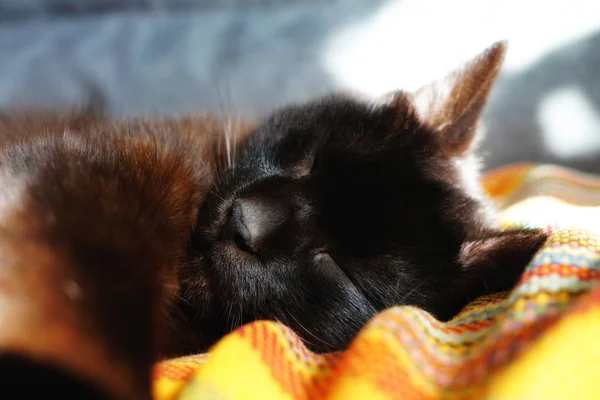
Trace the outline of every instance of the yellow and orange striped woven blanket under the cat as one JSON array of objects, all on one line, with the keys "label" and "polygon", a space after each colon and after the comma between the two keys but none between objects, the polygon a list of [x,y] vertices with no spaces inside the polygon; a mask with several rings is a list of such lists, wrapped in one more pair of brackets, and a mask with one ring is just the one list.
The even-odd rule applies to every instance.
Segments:
[{"label": "yellow and orange striped woven blanket under the cat", "polygon": [[315,355],[255,322],[208,355],[163,362],[158,399],[600,399],[600,177],[519,164],[484,186],[505,227],[551,227],[515,290],[448,323],[381,312],[340,353]]}]

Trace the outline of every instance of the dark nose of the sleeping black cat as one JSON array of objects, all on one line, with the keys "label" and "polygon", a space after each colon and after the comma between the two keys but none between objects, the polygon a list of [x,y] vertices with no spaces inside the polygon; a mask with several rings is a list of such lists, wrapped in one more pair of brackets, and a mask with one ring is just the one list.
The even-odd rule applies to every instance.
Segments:
[{"label": "dark nose of the sleeping black cat", "polygon": [[286,220],[286,210],[276,202],[258,198],[236,199],[231,209],[231,228],[237,246],[259,252]]}]

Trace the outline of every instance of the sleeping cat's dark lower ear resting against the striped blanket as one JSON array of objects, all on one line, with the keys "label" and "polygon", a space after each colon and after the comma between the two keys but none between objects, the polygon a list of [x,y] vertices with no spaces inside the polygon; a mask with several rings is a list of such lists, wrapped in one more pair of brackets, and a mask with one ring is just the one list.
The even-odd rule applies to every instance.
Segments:
[{"label": "sleeping cat's dark lower ear resting against the striped blanket", "polygon": [[460,274],[452,292],[463,302],[510,290],[548,238],[542,229],[492,232],[466,241],[458,255]]}]

